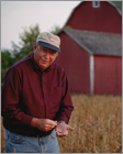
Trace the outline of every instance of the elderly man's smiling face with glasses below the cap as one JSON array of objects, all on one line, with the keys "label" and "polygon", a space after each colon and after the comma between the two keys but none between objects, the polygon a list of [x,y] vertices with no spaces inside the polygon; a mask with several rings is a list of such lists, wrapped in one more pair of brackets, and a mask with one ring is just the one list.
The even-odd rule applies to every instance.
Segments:
[{"label": "elderly man's smiling face with glasses below the cap", "polygon": [[34,59],[43,70],[46,69],[52,63],[54,63],[58,55],[58,52],[42,47],[40,45],[36,45],[36,43],[33,44],[33,51]]}]

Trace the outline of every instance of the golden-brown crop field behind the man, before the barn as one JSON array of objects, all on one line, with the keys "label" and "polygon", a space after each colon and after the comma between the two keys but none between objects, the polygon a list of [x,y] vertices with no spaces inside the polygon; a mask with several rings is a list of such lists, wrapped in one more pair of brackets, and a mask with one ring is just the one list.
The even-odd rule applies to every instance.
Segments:
[{"label": "golden-brown crop field behind the man, before the barn", "polygon": [[[62,153],[122,153],[122,97],[71,95],[75,131],[58,138]],[[2,125],[2,124],[1,124]],[[4,153],[4,129],[1,128]]]}]

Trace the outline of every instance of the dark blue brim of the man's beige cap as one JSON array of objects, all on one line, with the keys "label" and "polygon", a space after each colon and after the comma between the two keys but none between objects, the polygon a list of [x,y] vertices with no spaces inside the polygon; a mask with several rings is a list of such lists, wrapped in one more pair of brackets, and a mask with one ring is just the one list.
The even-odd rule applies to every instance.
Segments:
[{"label": "dark blue brim of the man's beige cap", "polygon": [[58,47],[52,45],[52,44],[48,44],[46,42],[41,42],[41,41],[38,41],[38,44],[43,47],[47,47],[49,50],[53,50],[53,51],[56,51],[56,52],[60,53],[60,50]]}]

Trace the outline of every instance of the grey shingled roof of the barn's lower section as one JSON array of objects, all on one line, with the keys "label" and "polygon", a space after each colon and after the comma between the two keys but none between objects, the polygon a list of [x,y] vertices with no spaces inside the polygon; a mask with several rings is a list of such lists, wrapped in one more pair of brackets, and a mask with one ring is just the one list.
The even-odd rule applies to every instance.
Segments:
[{"label": "grey shingled roof of the barn's lower section", "polygon": [[90,55],[122,56],[122,35],[120,34],[72,29],[63,29],[63,31]]}]

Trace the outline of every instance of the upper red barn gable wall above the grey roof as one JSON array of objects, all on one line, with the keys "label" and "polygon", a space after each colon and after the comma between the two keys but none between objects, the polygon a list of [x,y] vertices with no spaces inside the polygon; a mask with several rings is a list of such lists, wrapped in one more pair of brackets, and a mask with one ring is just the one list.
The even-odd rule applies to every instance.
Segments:
[{"label": "upper red barn gable wall above the grey roof", "polygon": [[92,8],[92,1],[88,1],[74,11],[66,25],[77,30],[121,34],[122,16],[107,1],[100,1],[100,8]]}]

